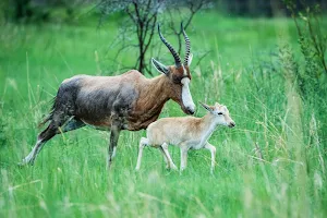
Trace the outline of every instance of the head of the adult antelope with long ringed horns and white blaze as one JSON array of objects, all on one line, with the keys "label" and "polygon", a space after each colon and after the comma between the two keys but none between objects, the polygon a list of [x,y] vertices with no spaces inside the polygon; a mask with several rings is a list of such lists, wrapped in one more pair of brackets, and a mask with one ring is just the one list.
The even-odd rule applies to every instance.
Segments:
[{"label": "head of the adult antelope with long ringed horns and white blaze", "polygon": [[170,89],[170,98],[175,102],[178,102],[185,113],[193,114],[195,112],[195,105],[193,102],[192,95],[190,92],[190,82],[191,82],[190,64],[192,62],[193,56],[191,53],[190,39],[183,28],[183,24],[181,24],[181,31],[183,33],[185,45],[186,45],[184,62],[182,63],[177,51],[162,36],[159,25],[158,25],[159,37],[161,41],[167,46],[171,55],[173,56],[174,65],[165,65],[154,58],[152,59],[152,62],[160,73],[164,73],[169,78],[170,81],[169,87],[166,88]]}]

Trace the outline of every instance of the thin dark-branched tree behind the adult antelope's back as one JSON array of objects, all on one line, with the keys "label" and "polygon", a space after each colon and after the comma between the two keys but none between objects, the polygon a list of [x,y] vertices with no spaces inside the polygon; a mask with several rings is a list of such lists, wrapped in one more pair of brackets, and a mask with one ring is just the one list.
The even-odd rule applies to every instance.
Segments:
[{"label": "thin dark-branched tree behind the adult antelope's back", "polygon": [[[122,12],[126,15],[126,19],[123,20],[120,25],[121,29],[119,32],[119,37],[112,44],[120,44],[120,49],[116,58],[128,48],[136,47],[138,57],[134,68],[143,74],[145,72],[152,74],[148,64],[146,64],[146,53],[153,41],[159,14],[167,11],[168,15],[162,14],[160,21],[164,22],[162,17],[165,16],[165,23],[168,23],[172,34],[178,36],[179,47],[177,50],[180,53],[182,46],[182,31],[175,27],[175,17],[173,14],[178,14],[178,19],[184,21],[184,28],[186,29],[191,25],[194,14],[208,5],[210,5],[209,0],[102,0],[98,4],[102,15],[112,14],[114,12]],[[131,34],[136,34],[136,45],[133,45],[129,40]]]}]

